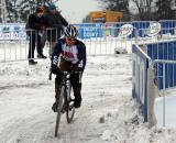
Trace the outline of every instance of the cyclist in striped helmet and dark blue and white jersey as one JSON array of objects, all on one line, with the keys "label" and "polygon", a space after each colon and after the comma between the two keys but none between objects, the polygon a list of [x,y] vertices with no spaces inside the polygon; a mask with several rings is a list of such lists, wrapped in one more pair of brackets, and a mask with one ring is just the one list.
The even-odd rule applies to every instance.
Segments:
[{"label": "cyclist in striped helmet and dark blue and white jersey", "polygon": [[[77,40],[78,31],[73,25],[67,25],[64,37],[59,38],[52,55],[52,73],[56,75],[55,92],[59,95],[62,87],[63,72],[74,72],[70,75],[70,84],[74,89],[74,107],[81,106],[81,76],[86,66],[86,46]],[[58,96],[55,96],[53,111],[57,111]]]}]

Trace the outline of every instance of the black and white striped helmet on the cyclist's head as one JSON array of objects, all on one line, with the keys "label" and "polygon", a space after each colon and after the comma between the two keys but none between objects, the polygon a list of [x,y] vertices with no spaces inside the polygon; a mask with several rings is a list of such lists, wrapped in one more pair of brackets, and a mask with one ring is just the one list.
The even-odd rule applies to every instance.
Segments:
[{"label": "black and white striped helmet on the cyclist's head", "polygon": [[64,34],[66,37],[75,38],[78,35],[78,30],[74,25],[67,25]]}]

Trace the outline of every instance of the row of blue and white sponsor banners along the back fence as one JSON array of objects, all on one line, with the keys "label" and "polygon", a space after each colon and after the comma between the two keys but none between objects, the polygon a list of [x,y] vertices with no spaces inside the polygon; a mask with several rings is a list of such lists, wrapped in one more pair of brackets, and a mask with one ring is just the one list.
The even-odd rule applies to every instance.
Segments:
[{"label": "row of blue and white sponsor banners along the back fence", "polygon": [[[111,22],[111,23],[80,23],[74,24],[78,28],[78,37],[96,38],[112,36],[118,37],[122,31],[131,31],[134,37],[136,34],[140,37],[145,37],[155,34],[157,31],[160,34],[175,34],[176,33],[176,20],[161,20],[161,21],[131,21],[131,22]],[[163,30],[163,31],[161,31]],[[136,33],[138,31],[138,33]],[[25,23],[7,23],[0,24],[0,40],[26,40]]]}]

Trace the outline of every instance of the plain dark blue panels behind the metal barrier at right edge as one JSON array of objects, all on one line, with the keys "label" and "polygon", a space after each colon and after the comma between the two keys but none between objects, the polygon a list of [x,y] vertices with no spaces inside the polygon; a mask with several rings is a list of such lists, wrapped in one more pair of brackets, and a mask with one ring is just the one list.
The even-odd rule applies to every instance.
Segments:
[{"label": "plain dark blue panels behind the metal barrier at right edge", "polygon": [[[154,59],[176,61],[176,40],[163,41],[158,43],[150,43],[146,45],[147,55]],[[166,64],[165,73],[163,73],[163,64],[155,64],[157,85],[160,89],[176,86],[176,65]],[[163,75],[165,74],[166,82],[163,85]]]}]

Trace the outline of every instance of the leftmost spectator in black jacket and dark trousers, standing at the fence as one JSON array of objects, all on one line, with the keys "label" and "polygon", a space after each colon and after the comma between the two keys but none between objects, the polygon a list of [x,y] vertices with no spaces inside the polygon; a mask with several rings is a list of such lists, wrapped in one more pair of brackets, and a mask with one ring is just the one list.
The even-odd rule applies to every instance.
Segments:
[{"label": "leftmost spectator in black jacket and dark trousers, standing at the fence", "polygon": [[43,16],[44,10],[43,8],[36,8],[35,13],[32,13],[29,16],[28,21],[28,35],[30,36],[30,45],[29,45],[29,64],[35,65],[37,62],[34,62],[34,51],[35,45],[37,47],[37,57],[38,58],[46,58],[43,55],[43,46],[41,45],[41,34],[45,31],[45,19]]}]

